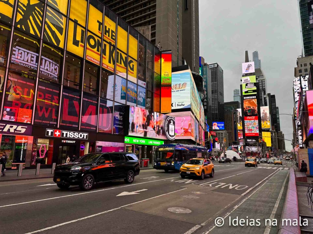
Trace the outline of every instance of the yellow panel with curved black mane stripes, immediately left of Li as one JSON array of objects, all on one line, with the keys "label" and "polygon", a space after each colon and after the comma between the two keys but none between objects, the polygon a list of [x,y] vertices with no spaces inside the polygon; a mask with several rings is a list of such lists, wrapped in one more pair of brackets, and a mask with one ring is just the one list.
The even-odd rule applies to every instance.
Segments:
[{"label": "yellow panel with curved black mane stripes, immediately left of Li", "polygon": [[[62,1],[62,3],[59,5],[59,8],[67,8],[67,5],[64,6],[64,2],[67,1]],[[51,3],[48,1],[48,5],[49,4]],[[53,7],[57,8],[57,6],[54,5]],[[47,7],[43,36],[44,41],[47,41],[55,46],[64,48],[65,28],[66,17],[54,10],[53,8]]]}]

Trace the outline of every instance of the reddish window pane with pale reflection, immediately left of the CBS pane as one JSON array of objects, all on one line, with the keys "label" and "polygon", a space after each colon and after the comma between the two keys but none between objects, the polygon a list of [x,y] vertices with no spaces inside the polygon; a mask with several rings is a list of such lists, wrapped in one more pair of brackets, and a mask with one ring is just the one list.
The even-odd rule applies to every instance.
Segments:
[{"label": "reddish window pane with pale reflection, immediately left of the CBS pane", "polygon": [[100,98],[98,132],[112,133],[113,102]]}]

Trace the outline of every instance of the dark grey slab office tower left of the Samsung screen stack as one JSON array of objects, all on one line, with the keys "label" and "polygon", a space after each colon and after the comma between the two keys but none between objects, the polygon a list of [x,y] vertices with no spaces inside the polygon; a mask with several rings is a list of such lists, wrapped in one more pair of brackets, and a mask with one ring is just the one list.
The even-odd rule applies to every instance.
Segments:
[{"label": "dark grey slab office tower left of the Samsung screen stack", "polygon": [[209,64],[211,70],[211,101],[213,121],[224,121],[224,75],[218,63]]}]

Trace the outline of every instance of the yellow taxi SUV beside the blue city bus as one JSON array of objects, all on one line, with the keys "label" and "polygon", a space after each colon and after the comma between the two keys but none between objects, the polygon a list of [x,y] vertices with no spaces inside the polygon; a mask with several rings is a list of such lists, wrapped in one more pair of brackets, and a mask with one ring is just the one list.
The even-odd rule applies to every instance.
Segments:
[{"label": "yellow taxi SUV beside the blue city bus", "polygon": [[191,158],[179,169],[180,176],[197,176],[204,179],[206,175],[214,177],[214,165],[209,159],[205,158]]}]

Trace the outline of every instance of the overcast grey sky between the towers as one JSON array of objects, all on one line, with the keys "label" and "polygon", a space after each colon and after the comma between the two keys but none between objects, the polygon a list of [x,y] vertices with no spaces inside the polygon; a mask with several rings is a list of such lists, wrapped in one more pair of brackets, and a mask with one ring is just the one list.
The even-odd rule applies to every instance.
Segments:
[{"label": "overcast grey sky between the towers", "polygon": [[[244,53],[259,51],[267,92],[275,94],[280,114],[293,112],[292,82],[301,54],[296,0],[199,0],[200,56],[224,71],[224,101],[239,89]],[[291,116],[280,115],[285,139],[292,139]],[[285,141],[286,149],[292,149]]]}]

